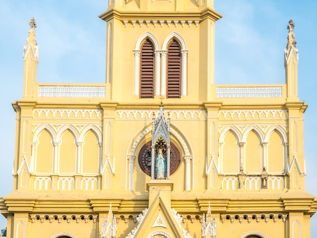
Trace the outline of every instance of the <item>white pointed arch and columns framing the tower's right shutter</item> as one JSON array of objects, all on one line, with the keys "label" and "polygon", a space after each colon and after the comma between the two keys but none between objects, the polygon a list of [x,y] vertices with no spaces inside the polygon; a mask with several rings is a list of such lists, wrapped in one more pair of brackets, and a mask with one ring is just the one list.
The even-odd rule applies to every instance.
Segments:
[{"label": "white pointed arch and columns framing the tower's right shutter", "polygon": [[[167,85],[167,59],[166,55],[168,53],[168,48],[170,46],[170,43],[172,41],[176,41],[180,45],[180,51],[181,51],[181,60],[180,60],[180,95],[186,96],[187,95],[187,53],[188,50],[186,49],[186,44],[183,39],[183,37],[178,34],[177,32],[172,32],[168,36],[166,36],[163,46],[162,46],[162,52],[161,52],[161,95],[166,95],[166,85]],[[167,65],[168,67],[168,65]]]}]

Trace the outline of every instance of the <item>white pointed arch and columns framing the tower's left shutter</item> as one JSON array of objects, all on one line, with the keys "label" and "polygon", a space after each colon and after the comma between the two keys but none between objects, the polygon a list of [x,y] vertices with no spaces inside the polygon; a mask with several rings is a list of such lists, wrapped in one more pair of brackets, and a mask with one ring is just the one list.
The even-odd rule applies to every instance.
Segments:
[{"label": "white pointed arch and columns framing the tower's left shutter", "polygon": [[[140,89],[140,53],[141,53],[141,46],[149,39],[154,47],[154,95],[160,95],[160,56],[159,53],[159,42],[157,41],[156,37],[150,33],[145,32],[143,33],[137,40],[134,52],[134,95],[139,95]],[[155,70],[156,69],[156,70]]]}]

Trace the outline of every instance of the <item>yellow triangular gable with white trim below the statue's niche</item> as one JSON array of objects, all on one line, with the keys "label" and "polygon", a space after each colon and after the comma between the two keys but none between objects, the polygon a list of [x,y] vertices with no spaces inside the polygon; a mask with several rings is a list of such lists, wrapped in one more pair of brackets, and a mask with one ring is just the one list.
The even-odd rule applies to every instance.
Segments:
[{"label": "yellow triangular gable with white trim below the statue's niche", "polygon": [[[165,197],[162,196],[161,192],[158,192],[151,206],[138,216],[139,224],[127,237],[147,238],[154,234],[161,234],[170,238],[191,238],[180,224],[183,220],[182,217],[175,210],[166,207],[165,204],[169,204],[169,202],[165,201]],[[158,221],[160,224],[157,223]]]}]

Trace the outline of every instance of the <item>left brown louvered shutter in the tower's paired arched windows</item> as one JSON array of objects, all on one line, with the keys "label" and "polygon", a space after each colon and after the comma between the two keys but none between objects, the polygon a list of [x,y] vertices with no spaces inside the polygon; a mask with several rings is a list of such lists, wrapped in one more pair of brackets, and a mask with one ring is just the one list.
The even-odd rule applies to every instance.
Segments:
[{"label": "left brown louvered shutter in the tower's paired arched windows", "polygon": [[154,46],[149,39],[141,47],[140,98],[154,97]]}]

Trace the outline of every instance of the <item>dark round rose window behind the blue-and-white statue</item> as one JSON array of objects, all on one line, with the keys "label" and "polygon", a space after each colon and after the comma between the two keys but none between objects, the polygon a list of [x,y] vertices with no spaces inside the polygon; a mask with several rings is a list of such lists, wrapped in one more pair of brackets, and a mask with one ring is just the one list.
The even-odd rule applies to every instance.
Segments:
[{"label": "dark round rose window behind the blue-and-white statue", "polygon": [[[166,144],[159,144],[159,146],[155,146],[155,156],[158,153],[158,149],[163,149],[163,155],[167,158],[167,147]],[[151,141],[147,142],[140,150],[139,153],[139,165],[144,173],[148,176],[151,176]],[[171,142],[171,150],[170,150],[170,175],[175,173],[177,168],[180,165],[180,153],[177,147]],[[165,171],[166,174],[166,171]],[[156,177],[156,174],[154,174]]]}]

